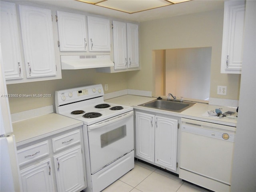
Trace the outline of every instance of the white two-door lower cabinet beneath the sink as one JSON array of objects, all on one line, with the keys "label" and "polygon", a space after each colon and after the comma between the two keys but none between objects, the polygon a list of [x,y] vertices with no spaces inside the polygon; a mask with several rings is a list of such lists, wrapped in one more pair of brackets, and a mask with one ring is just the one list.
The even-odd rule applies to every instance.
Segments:
[{"label": "white two-door lower cabinet beneath the sink", "polygon": [[178,119],[135,112],[135,157],[176,172]]}]

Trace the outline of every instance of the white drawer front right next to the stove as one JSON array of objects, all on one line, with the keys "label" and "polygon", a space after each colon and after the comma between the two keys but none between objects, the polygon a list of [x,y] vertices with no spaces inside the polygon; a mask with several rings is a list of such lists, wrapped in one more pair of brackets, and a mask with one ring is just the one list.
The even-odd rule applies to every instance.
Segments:
[{"label": "white drawer front right next to the stove", "polygon": [[68,146],[80,143],[80,130],[69,132],[67,134],[52,138],[53,152],[62,150]]}]

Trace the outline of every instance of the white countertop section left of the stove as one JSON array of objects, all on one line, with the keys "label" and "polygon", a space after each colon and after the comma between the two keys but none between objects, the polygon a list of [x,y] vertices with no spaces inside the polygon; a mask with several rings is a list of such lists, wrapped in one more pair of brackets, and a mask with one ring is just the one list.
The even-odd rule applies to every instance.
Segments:
[{"label": "white countertop section left of the stove", "polygon": [[16,146],[65,130],[82,126],[82,122],[56,113],[36,116],[12,123]]}]

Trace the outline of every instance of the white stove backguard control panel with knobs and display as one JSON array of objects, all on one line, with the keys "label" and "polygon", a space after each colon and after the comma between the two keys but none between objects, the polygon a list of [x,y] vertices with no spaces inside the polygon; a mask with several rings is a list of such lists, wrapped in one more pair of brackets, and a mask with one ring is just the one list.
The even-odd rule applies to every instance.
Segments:
[{"label": "white stove backguard control panel with knobs and display", "polygon": [[99,96],[104,96],[101,84],[60,90],[55,92],[55,105],[61,106]]}]

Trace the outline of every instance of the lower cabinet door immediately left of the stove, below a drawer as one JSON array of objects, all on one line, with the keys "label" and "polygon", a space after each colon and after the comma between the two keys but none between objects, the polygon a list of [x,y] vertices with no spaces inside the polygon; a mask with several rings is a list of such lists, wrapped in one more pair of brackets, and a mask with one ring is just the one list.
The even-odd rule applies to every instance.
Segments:
[{"label": "lower cabinet door immediately left of the stove, below a drawer", "polygon": [[58,191],[80,191],[85,188],[81,146],[54,156]]}]

